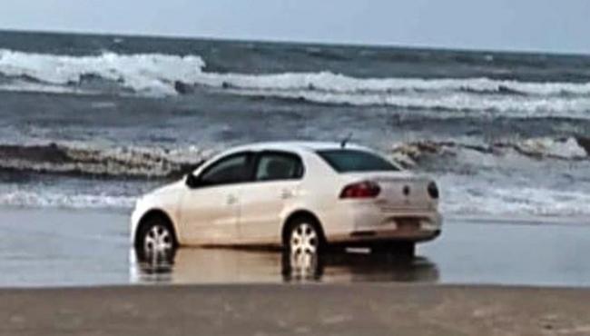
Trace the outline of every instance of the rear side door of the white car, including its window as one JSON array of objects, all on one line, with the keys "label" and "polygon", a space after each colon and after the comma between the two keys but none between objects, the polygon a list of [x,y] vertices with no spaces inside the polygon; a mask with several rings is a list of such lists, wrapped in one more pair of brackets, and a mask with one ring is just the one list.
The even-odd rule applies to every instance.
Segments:
[{"label": "rear side door of the white car, including its window", "polygon": [[242,242],[280,243],[280,215],[297,197],[303,171],[303,163],[295,153],[258,153],[254,179],[241,189]]}]

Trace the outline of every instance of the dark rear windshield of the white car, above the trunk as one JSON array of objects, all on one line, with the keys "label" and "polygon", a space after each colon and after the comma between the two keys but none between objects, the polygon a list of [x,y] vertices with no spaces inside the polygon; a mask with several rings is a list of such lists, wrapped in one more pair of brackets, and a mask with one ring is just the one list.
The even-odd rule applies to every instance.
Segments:
[{"label": "dark rear windshield of the white car, above the trunk", "polygon": [[399,170],[393,163],[366,151],[338,149],[318,151],[318,154],[338,173]]}]

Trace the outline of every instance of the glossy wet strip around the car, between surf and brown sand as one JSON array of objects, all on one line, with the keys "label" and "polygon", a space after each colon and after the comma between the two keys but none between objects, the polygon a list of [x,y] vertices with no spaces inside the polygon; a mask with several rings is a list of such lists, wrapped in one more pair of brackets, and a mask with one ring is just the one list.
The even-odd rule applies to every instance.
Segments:
[{"label": "glossy wet strip around the car, between surf and brown sand", "polygon": [[[129,283],[418,282],[590,286],[590,225],[447,219],[418,257],[335,253],[286,273],[279,252],[181,249],[170,267],[135,262],[128,214],[0,209],[0,287]],[[296,270],[297,271],[297,270]]]}]

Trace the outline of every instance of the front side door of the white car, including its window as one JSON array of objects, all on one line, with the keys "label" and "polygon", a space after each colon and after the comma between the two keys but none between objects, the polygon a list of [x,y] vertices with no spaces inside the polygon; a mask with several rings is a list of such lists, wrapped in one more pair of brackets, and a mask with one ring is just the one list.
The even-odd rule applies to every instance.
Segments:
[{"label": "front side door of the white car, including its window", "polygon": [[251,180],[253,155],[233,153],[196,176],[182,197],[183,237],[190,244],[230,244],[238,238],[240,189]]}]

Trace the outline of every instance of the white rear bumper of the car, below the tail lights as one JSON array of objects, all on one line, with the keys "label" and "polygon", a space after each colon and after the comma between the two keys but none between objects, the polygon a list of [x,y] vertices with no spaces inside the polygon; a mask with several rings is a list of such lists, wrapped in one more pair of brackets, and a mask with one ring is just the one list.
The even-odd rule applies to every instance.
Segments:
[{"label": "white rear bumper of the car, below the tail lights", "polygon": [[340,212],[325,228],[329,243],[428,242],[442,232],[442,215],[437,210],[383,212],[360,204]]}]

